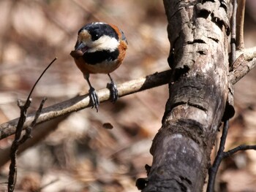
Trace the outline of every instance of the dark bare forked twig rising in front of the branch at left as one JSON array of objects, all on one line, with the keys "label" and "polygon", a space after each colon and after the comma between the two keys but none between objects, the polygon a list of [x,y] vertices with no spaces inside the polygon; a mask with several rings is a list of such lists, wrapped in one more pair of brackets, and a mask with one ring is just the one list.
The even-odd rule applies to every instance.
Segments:
[{"label": "dark bare forked twig rising in front of the branch at left", "polygon": [[[51,64],[53,64],[54,61],[56,61],[56,59],[57,58],[54,58],[53,61],[51,61],[50,64],[45,68],[45,70],[42,72],[42,74],[37,79],[37,82],[39,82],[42,75],[45,74],[47,69],[51,66]],[[26,122],[26,116],[27,116],[26,113],[31,104],[31,94],[34,91],[34,88],[36,87],[37,82],[35,82],[33,88],[31,88],[29,96],[27,97],[24,105],[21,104],[20,100],[18,100],[18,107],[20,107],[20,118],[18,119],[18,124],[17,124],[16,130],[15,130],[15,139],[12,142],[12,146],[11,146],[11,150],[10,150],[11,163],[10,163],[10,172],[9,172],[9,178],[8,178],[8,192],[14,191],[14,188],[15,188],[15,183],[16,183],[16,178],[17,178],[16,156],[17,156],[17,152],[18,152],[18,147],[21,144],[23,144],[24,142],[26,142],[26,140],[31,137],[31,128],[33,128],[36,125],[37,119],[39,118],[39,115],[42,111],[43,104],[45,103],[45,100],[46,100],[46,99],[42,100],[42,102],[39,106],[39,109],[37,110],[36,114],[34,115],[34,120],[31,122],[31,124],[28,127],[26,127],[26,134],[24,134],[24,136],[20,139],[21,133],[23,131],[24,123]]]}]

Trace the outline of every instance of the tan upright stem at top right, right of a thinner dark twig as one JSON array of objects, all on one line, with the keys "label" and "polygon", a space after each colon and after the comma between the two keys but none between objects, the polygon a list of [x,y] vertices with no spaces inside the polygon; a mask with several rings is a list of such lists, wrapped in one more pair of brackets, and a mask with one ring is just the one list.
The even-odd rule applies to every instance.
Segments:
[{"label": "tan upright stem at top right, right of a thinner dark twig", "polygon": [[236,23],[236,50],[244,49],[244,10],[246,0],[238,0]]}]

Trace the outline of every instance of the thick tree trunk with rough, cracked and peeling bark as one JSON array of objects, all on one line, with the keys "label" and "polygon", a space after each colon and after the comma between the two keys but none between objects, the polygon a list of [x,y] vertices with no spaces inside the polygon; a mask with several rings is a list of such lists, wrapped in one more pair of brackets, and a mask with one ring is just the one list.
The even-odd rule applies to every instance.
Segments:
[{"label": "thick tree trunk with rough, cracked and peeling bark", "polygon": [[224,1],[164,0],[173,69],[148,191],[202,191],[228,93]]}]

